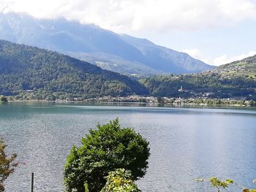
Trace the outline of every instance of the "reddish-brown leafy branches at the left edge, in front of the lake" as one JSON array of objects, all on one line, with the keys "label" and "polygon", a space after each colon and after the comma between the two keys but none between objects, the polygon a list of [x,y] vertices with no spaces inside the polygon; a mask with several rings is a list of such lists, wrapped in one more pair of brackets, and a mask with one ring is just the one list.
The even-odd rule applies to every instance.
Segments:
[{"label": "reddish-brown leafy branches at the left edge, in front of the lake", "polygon": [[0,191],[4,191],[4,180],[10,176],[15,170],[15,167],[18,166],[18,163],[15,163],[15,158],[17,154],[12,154],[10,158],[8,158],[5,153],[5,147],[7,145],[4,144],[4,141],[0,138]]}]

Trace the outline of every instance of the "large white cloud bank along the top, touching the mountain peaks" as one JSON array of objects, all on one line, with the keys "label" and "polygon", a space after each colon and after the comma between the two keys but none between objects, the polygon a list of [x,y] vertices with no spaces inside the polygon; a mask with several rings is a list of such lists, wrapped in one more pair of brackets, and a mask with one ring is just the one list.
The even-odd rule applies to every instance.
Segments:
[{"label": "large white cloud bank along the top, touching the mountain peaks", "polygon": [[118,32],[193,30],[256,18],[256,0],[0,0],[0,10],[80,20]]}]

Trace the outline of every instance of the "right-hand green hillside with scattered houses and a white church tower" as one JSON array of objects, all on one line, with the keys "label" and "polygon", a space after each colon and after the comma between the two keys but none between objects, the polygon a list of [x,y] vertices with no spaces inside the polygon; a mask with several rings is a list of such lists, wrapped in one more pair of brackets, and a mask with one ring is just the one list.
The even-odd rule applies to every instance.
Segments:
[{"label": "right-hand green hillside with scattered houses and a white church tower", "polygon": [[152,76],[140,82],[153,96],[256,100],[256,55],[198,74]]}]

